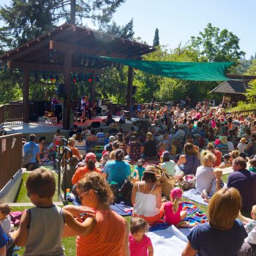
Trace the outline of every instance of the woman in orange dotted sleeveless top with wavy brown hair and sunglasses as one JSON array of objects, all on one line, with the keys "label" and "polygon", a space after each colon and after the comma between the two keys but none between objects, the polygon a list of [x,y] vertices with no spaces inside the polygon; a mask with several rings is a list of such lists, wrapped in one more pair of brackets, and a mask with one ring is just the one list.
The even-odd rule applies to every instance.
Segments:
[{"label": "woman in orange dotted sleeveless top with wavy brown hair and sunglasses", "polygon": [[[125,219],[110,210],[113,203],[113,192],[102,175],[89,172],[77,187],[82,206],[65,206],[79,220],[94,217],[89,223],[87,233],[78,233],[66,226],[63,236],[77,236],[77,256],[128,256],[129,227]],[[87,214],[84,214],[87,212]],[[80,214],[84,214],[83,217]]]}]

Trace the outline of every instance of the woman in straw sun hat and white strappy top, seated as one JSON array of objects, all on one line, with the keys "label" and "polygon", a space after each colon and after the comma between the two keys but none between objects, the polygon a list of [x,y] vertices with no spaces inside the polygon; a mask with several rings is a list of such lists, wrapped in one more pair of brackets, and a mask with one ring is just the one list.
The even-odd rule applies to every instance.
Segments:
[{"label": "woman in straw sun hat and white strappy top, seated", "polygon": [[156,167],[148,165],[143,172],[142,181],[135,182],[132,189],[132,215],[145,219],[149,224],[158,222],[164,215],[162,188],[157,184],[159,176]]}]

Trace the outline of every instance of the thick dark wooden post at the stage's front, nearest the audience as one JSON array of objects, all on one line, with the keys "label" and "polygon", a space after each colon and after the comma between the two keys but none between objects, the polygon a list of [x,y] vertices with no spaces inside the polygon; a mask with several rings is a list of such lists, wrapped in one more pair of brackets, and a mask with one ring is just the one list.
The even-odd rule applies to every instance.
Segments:
[{"label": "thick dark wooden post at the stage's front, nearest the audience", "polygon": [[71,94],[71,53],[64,53],[64,86],[65,86],[65,97],[64,97],[64,116],[63,116],[63,128],[70,128],[70,94]]}]

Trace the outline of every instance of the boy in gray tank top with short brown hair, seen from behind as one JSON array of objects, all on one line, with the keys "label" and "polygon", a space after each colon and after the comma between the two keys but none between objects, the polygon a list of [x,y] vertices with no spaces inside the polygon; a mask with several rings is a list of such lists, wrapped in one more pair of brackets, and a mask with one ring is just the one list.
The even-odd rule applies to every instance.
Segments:
[{"label": "boy in gray tank top with short brown hair, seen from behind", "polygon": [[24,211],[20,227],[12,234],[16,245],[26,247],[24,255],[64,255],[61,237],[65,223],[83,236],[91,232],[95,222],[93,211],[85,211],[87,218],[78,222],[68,211],[53,205],[56,182],[50,170],[39,168],[30,173],[26,189],[36,207]]}]

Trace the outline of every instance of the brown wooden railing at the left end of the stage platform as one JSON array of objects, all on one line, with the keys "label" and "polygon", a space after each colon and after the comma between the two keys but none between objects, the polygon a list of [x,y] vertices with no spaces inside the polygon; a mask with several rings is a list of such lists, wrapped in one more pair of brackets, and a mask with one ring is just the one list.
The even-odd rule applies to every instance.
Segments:
[{"label": "brown wooden railing at the left end of the stage platform", "polygon": [[12,121],[23,121],[23,104],[0,106],[0,125]]}]

